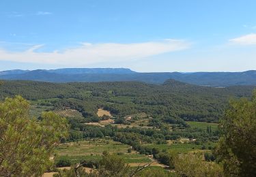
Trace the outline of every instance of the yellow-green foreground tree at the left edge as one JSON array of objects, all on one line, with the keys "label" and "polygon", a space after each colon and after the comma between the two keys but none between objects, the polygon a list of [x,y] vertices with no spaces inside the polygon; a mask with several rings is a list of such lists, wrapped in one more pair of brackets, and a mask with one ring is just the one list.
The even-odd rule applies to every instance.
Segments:
[{"label": "yellow-green foreground tree at the left edge", "polygon": [[5,99],[0,103],[0,176],[42,175],[67,129],[66,120],[53,112],[30,119],[29,102],[20,96]]}]

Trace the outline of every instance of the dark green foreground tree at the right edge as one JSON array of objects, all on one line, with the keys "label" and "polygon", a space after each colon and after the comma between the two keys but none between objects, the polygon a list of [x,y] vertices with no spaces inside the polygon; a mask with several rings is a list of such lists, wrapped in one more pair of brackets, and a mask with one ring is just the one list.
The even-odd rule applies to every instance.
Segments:
[{"label": "dark green foreground tree at the right edge", "polygon": [[227,176],[256,176],[256,91],[251,100],[230,101],[221,119],[223,136],[216,149]]}]

